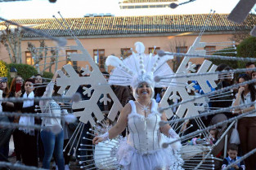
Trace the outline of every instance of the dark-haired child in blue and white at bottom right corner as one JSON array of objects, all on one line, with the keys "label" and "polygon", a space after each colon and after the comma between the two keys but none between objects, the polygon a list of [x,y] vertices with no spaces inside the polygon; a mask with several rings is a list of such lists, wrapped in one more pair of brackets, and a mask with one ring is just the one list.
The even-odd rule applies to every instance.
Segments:
[{"label": "dark-haired child in blue and white at bottom right corner", "polygon": [[[240,159],[240,157],[237,156],[237,153],[238,153],[238,146],[236,146],[236,144],[234,144],[234,143],[231,143],[227,149],[228,157],[223,160],[222,169],[226,168],[229,164],[234,163],[237,159]],[[236,163],[230,169],[231,170],[235,170],[235,169],[245,170],[245,162],[240,161],[240,163]]]}]

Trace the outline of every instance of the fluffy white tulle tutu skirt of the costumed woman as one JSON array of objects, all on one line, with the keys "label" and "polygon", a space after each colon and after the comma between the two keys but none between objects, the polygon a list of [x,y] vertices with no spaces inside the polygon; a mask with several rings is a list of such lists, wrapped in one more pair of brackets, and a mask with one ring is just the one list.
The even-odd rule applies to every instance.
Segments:
[{"label": "fluffy white tulle tutu skirt of the costumed woman", "polygon": [[151,150],[150,153],[142,155],[126,141],[120,143],[117,158],[119,167],[124,170],[178,170],[182,169],[183,163],[172,146]]}]

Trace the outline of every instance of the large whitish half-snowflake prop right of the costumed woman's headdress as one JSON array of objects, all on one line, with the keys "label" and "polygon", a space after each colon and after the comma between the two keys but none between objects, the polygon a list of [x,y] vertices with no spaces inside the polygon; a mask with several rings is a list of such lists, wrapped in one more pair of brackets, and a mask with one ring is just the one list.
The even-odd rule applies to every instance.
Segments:
[{"label": "large whitish half-snowflake prop right of the costumed woman's headdress", "polygon": [[[197,37],[195,39],[194,44],[190,47],[188,52],[186,54],[205,54],[205,50],[196,50],[196,48],[204,47],[205,43],[200,42],[201,37]],[[168,86],[168,89],[166,90],[164,97],[162,98],[160,102],[160,107],[168,107],[168,99],[173,100],[173,102],[177,102],[177,100],[190,100],[194,98],[194,95],[190,95],[191,90],[195,90],[193,88],[194,84],[188,84],[189,81],[197,81],[203,89],[204,93],[210,92],[210,87],[207,84],[207,81],[209,84],[215,88],[217,85],[214,81],[218,80],[218,74],[213,75],[205,75],[205,76],[189,76],[189,75],[196,75],[198,73],[204,73],[204,72],[215,72],[217,66],[213,65],[211,67],[211,63],[209,60],[204,60],[204,63],[201,65],[200,70],[198,72],[195,72],[195,64],[192,64],[189,62],[190,58],[185,57],[182,60],[182,63],[180,64],[179,68],[177,69],[176,75],[188,75],[187,77],[177,77],[175,81],[171,83],[171,85]],[[187,66],[187,67],[186,67]],[[208,71],[209,70],[209,71]],[[195,72],[195,73],[190,73]],[[176,85],[175,85],[176,84]],[[205,98],[198,98],[192,102],[186,102],[180,105],[177,108],[176,115],[178,117],[183,116],[195,116],[199,114],[199,111],[204,111],[204,101]],[[165,111],[167,118],[171,118],[173,116],[172,109],[168,109]]]}]

